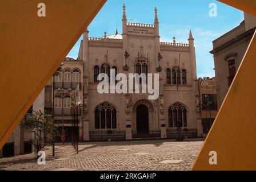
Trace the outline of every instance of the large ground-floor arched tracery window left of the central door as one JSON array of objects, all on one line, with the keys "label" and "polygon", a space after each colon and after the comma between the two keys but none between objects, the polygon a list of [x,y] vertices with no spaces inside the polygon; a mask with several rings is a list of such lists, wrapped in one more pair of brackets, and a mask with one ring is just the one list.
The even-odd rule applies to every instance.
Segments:
[{"label": "large ground-floor arched tracery window left of the central door", "polygon": [[104,102],[95,109],[95,129],[117,129],[117,110]]}]

